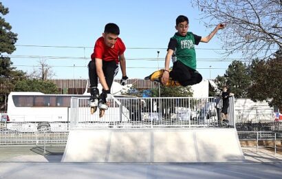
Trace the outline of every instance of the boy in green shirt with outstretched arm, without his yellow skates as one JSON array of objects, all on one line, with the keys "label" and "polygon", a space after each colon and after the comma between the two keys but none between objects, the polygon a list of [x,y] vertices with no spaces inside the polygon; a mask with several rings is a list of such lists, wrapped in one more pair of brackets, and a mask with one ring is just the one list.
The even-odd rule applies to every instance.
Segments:
[{"label": "boy in green shirt with outstretched arm, without his yellow skates", "polygon": [[[169,41],[169,48],[166,53],[165,68],[162,70],[162,84],[164,85],[179,85],[171,84],[179,82],[182,86],[195,85],[202,81],[202,75],[196,71],[197,61],[195,53],[195,45],[199,42],[208,43],[210,39],[217,33],[218,30],[224,29],[224,24],[219,23],[217,27],[208,36],[202,37],[188,32],[188,18],[180,15],[176,19],[175,29],[177,32]],[[177,61],[173,63],[173,69],[169,70],[171,56],[175,53]],[[173,82],[171,82],[171,80]]]}]

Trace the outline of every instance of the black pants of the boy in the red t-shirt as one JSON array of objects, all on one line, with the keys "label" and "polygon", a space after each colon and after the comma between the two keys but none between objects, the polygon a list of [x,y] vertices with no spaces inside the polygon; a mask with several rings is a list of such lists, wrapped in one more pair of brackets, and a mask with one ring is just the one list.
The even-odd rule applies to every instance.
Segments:
[{"label": "black pants of the boy in the red t-shirt", "polygon": [[[104,72],[106,83],[109,89],[111,89],[111,85],[113,84],[113,77],[118,74],[118,64],[116,64],[116,61],[102,61],[102,71]],[[97,87],[98,75],[96,72],[95,60],[91,60],[88,63],[88,74],[90,87]]]}]

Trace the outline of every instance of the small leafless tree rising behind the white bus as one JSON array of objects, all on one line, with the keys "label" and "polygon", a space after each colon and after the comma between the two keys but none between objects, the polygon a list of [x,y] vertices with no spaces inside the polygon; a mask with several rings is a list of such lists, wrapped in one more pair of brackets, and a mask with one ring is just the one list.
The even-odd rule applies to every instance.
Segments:
[{"label": "small leafless tree rising behind the white bus", "polygon": [[38,69],[33,69],[33,71],[29,74],[30,78],[41,79],[42,81],[46,81],[47,78],[52,78],[55,73],[52,71],[52,67],[47,65],[46,59],[41,59],[39,61]]}]

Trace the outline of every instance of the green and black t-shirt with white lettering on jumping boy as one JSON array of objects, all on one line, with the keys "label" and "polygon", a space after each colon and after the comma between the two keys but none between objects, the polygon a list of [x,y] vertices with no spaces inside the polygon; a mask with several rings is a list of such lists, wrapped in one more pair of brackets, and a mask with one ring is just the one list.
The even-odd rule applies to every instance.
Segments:
[{"label": "green and black t-shirt with white lettering on jumping boy", "polygon": [[195,45],[199,44],[202,36],[197,36],[192,32],[187,32],[186,36],[181,36],[175,33],[169,41],[169,49],[175,51],[177,61],[181,61],[184,65],[191,67],[196,70],[196,52]]}]

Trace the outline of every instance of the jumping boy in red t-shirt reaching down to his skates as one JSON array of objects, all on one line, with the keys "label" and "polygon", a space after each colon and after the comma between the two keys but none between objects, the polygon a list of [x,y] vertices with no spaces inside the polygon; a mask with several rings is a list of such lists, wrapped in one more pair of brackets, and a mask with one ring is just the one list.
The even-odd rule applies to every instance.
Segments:
[{"label": "jumping boy in red t-shirt reaching down to his skates", "polygon": [[[97,39],[94,52],[91,54],[91,61],[88,64],[90,79],[89,105],[91,107],[99,107],[100,109],[108,109],[107,101],[111,93],[111,85],[113,77],[118,74],[118,63],[122,70],[122,85],[126,84],[127,72],[124,58],[125,45],[118,37],[120,28],[115,23],[105,25],[104,33]],[[99,98],[99,90],[97,88],[98,78],[102,85],[102,93]]]}]

